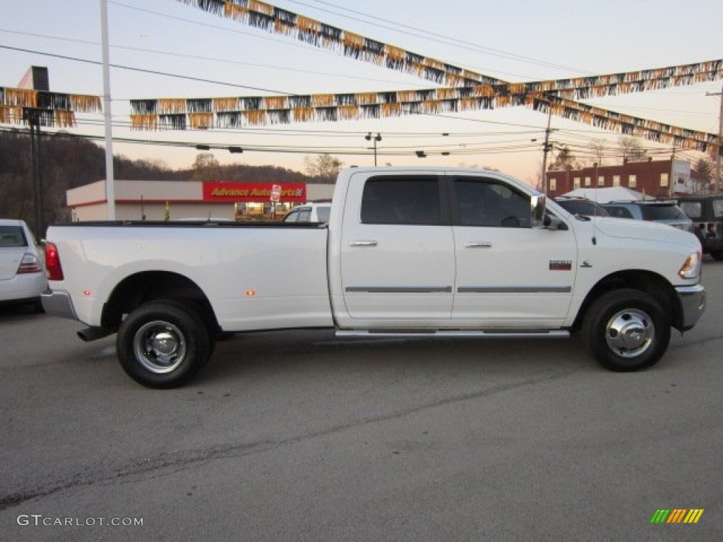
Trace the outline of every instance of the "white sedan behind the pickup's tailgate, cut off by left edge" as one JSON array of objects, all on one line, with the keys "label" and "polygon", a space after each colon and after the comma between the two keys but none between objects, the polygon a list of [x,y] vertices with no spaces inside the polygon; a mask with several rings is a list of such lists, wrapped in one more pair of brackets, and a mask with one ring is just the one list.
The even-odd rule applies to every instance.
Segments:
[{"label": "white sedan behind the pickup's tailgate, cut off by left edge", "polygon": [[0,304],[35,304],[48,287],[43,254],[22,220],[0,219]]}]

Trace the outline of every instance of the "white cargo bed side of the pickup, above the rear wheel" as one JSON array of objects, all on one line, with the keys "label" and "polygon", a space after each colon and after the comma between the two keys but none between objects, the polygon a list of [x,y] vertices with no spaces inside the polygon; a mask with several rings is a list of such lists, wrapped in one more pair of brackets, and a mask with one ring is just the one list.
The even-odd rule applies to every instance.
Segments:
[{"label": "white cargo bed side of the pickup, above the rear wheel", "polygon": [[116,288],[149,270],[155,281],[164,273],[191,280],[224,331],[333,324],[322,225],[116,221],[54,225],[51,233],[65,275],[54,289],[67,291],[91,326],[101,324]]}]

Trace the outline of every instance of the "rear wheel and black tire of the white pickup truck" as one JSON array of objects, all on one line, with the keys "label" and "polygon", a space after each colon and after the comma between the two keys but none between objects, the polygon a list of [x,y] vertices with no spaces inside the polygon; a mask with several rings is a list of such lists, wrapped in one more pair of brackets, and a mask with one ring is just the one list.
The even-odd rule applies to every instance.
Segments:
[{"label": "rear wheel and black tire of the white pickup truck", "polygon": [[206,364],[211,345],[205,325],[187,307],[151,301],[121,323],[116,352],[123,370],[139,384],[171,388]]}]

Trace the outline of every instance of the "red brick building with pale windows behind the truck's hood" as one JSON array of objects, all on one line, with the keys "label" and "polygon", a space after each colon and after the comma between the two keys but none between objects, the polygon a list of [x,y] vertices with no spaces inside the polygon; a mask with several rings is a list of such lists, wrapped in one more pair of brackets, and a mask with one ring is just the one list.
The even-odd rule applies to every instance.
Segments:
[{"label": "red brick building with pale windows behind the truck's hood", "polygon": [[646,196],[666,198],[695,192],[685,160],[625,162],[565,171],[547,171],[547,193],[560,196],[578,188],[625,186]]}]

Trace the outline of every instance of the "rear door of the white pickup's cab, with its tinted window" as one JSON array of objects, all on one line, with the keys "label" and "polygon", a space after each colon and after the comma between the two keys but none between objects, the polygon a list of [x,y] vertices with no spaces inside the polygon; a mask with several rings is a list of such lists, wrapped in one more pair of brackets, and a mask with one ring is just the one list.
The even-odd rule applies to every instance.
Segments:
[{"label": "rear door of the white pickup's cab, with its tinted window", "polygon": [[341,325],[449,323],[455,257],[442,181],[414,172],[351,177],[341,232]]}]

